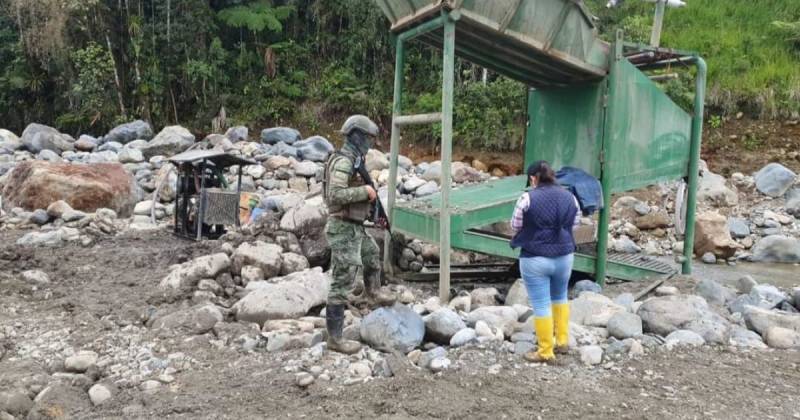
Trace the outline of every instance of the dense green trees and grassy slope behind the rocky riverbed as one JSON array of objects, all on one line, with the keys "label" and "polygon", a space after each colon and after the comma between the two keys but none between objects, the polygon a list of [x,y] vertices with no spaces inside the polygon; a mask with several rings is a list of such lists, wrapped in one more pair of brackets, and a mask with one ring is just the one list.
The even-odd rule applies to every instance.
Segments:
[{"label": "dense green trees and grassy slope behind the rocky riverbed", "polygon": [[[604,36],[623,28],[648,40],[652,4],[586,2]],[[665,28],[665,46],[707,58],[712,114],[800,112],[797,0],[690,0]],[[388,22],[370,0],[0,0],[0,125],[16,132],[35,121],[100,135],[133,118],[209,131],[223,107],[228,125],[252,128],[325,133],[354,112],[388,127],[393,66]],[[405,109],[439,106],[440,68],[438,51],[410,48]],[[663,87],[686,106],[690,79]],[[461,60],[456,86],[457,144],[521,144],[524,86],[484,80]]]}]

